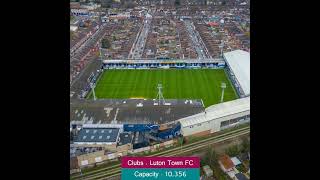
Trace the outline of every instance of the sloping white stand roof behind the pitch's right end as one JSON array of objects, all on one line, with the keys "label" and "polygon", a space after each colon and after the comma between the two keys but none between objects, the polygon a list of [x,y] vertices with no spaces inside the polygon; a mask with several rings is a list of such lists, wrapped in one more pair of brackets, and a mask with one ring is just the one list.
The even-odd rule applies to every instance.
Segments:
[{"label": "sloping white stand roof behind the pitch's right end", "polygon": [[226,70],[240,97],[250,96],[250,53],[235,50],[223,54]]}]

